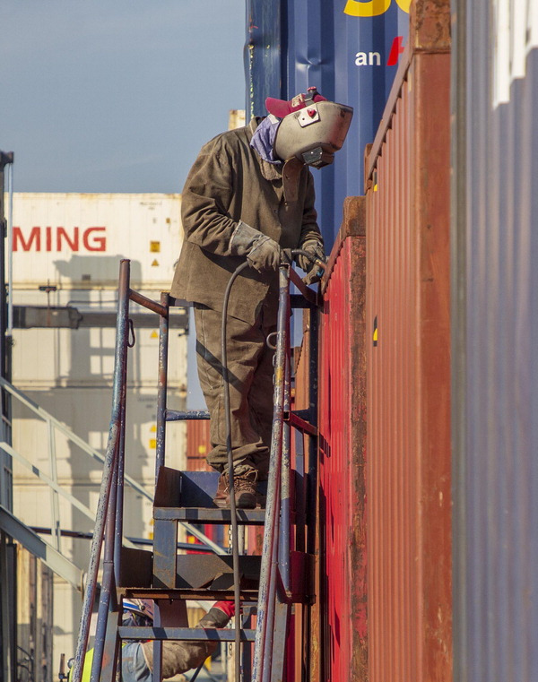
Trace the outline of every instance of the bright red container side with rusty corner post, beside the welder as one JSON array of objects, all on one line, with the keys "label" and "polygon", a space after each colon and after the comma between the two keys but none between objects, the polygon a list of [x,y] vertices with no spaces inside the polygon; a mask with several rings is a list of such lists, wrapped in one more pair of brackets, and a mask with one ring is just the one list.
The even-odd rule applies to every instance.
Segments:
[{"label": "bright red container side with rusty corner post, beside the welder", "polygon": [[365,200],[350,197],[325,272],[319,355],[323,680],[368,678]]}]

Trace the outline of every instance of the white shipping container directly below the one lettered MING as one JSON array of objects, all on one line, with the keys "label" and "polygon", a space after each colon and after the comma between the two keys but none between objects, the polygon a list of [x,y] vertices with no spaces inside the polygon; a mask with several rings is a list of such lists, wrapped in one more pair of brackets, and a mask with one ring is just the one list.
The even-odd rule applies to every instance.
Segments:
[{"label": "white shipping container directly below the one lettered MING", "polygon": [[[114,320],[117,291],[111,289],[60,289],[48,294],[38,289],[13,287],[15,306],[73,306],[85,315],[109,312]],[[137,289],[159,301],[161,292]],[[134,347],[128,350],[128,382],[133,386],[155,386],[159,364],[159,315],[130,302],[131,314],[144,313],[152,326],[134,325]],[[116,324],[114,322],[114,324]],[[114,372],[116,328],[31,328],[13,330],[13,377],[22,390],[69,386],[111,386]],[[169,387],[186,392],[187,335],[185,329],[169,331]]]}]

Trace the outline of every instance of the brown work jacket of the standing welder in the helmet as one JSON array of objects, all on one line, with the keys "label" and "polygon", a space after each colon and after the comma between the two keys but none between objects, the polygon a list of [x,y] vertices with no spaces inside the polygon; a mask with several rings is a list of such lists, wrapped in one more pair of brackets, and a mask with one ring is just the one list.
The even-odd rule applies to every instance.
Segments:
[{"label": "brown work jacket of the standing welder in the helmet", "polygon": [[[253,118],[207,142],[188,174],[181,202],[184,242],[170,289],[175,298],[221,311],[230,275],[245,262],[230,254],[239,220],[282,248],[323,241],[308,168],[299,160],[274,166],[249,146],[260,121]],[[277,297],[277,273],[247,268],[231,289],[229,315],[253,324],[264,300],[272,298],[270,288]]]}]

